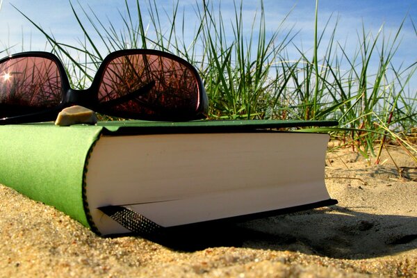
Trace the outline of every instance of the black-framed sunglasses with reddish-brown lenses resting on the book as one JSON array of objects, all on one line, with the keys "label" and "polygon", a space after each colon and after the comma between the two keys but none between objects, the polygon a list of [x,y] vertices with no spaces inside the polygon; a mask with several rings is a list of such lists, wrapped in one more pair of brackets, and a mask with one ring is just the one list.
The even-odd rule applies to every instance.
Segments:
[{"label": "black-framed sunglasses with reddish-brown lenses resting on the book", "polygon": [[208,100],[195,67],[163,51],[109,54],[86,90],[70,87],[54,54],[31,51],[0,60],[0,124],[55,120],[72,105],[126,119],[188,121],[206,117]]}]

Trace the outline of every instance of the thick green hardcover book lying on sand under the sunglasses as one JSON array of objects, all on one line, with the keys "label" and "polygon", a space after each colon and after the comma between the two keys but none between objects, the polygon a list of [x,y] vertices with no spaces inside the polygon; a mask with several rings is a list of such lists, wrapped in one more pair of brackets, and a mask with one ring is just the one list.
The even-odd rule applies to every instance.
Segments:
[{"label": "thick green hardcover book lying on sand under the sunglasses", "polygon": [[165,228],[329,206],[337,203],[324,179],[329,135],[283,129],[336,124],[3,125],[0,183],[103,236],[135,231],[117,220],[123,211]]}]

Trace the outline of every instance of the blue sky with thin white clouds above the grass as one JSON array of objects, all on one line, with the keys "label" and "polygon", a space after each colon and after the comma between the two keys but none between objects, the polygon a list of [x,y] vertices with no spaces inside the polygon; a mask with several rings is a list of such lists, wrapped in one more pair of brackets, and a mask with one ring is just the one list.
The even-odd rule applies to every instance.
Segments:
[{"label": "blue sky with thin white clouds above the grass", "polygon": [[[184,33],[188,40],[192,39],[195,32],[197,19],[195,17],[195,3],[198,0],[179,0],[179,17],[185,14]],[[207,1],[207,0],[206,0]],[[132,10],[136,10],[136,0],[127,0]],[[147,8],[149,1],[139,0],[142,13],[145,15],[145,23],[150,22],[147,16]],[[167,10],[172,13],[174,0],[156,0],[158,8]],[[199,1],[202,2],[202,1]],[[224,22],[230,22],[234,18],[234,1],[209,1],[213,3],[215,9],[221,7]],[[237,0],[239,3],[239,1]],[[42,28],[60,41],[70,45],[79,46],[79,41],[83,40],[83,32],[76,22],[76,18],[72,13],[70,1],[67,0],[0,0],[0,51],[8,49],[7,53],[3,51],[3,55],[8,53],[16,53],[29,50],[49,50],[44,35],[38,31],[33,24],[20,14],[20,10],[33,22],[42,26]],[[80,4],[81,3],[81,4]],[[153,1],[152,1],[153,3]],[[255,13],[259,14],[260,1],[243,1],[243,15],[245,19],[244,31],[250,33],[252,19]],[[101,22],[107,24],[111,22],[115,28],[123,28],[122,15],[126,15],[124,0],[89,0],[76,1],[72,4],[76,9],[85,26],[89,28],[88,20],[83,17],[81,10],[89,7],[95,11],[95,14]],[[13,6],[16,8],[13,8]],[[311,53],[314,39],[314,13],[316,1],[313,0],[264,0],[265,7],[265,24],[268,32],[273,32],[283,21],[284,25],[281,29],[289,31],[293,28],[293,32],[297,36],[293,40],[293,44],[299,49],[303,49],[306,54]],[[416,0],[321,0],[319,2],[319,31],[324,28],[327,19],[332,17],[330,29],[334,26],[338,19],[336,29],[336,40],[340,42],[345,51],[354,53],[357,50],[358,32],[361,32],[362,24],[366,31],[370,31],[376,35],[379,28],[384,25],[384,36],[388,38],[395,35],[402,20],[405,18],[404,26],[400,34],[401,43],[398,53],[393,63],[400,65],[404,63],[411,65],[417,61],[417,35],[411,19],[417,27],[417,5]],[[161,13],[161,18],[164,17]],[[288,16],[288,17],[286,17]],[[246,20],[247,19],[247,20]],[[166,22],[162,28],[170,28],[170,23]],[[232,35],[231,28],[227,31]],[[330,31],[325,33],[324,40],[328,40]],[[98,38],[93,37],[93,40]],[[323,45],[326,45],[325,43]],[[325,47],[319,51],[325,51]],[[291,51],[291,50],[290,50]],[[297,51],[293,48],[290,56],[297,55]],[[104,53],[106,54],[106,53]],[[319,54],[320,58],[320,54]],[[417,92],[417,74],[414,74],[413,90]]]}]

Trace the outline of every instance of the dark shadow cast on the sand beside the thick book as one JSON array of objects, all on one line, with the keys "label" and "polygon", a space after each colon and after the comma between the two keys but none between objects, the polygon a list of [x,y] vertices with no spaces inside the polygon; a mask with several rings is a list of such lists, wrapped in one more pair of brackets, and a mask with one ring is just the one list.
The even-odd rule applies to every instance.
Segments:
[{"label": "dark shadow cast on the sand beside the thick book", "polygon": [[332,206],[240,223],[185,225],[170,228],[162,238],[150,239],[189,252],[233,246],[366,259],[417,248],[417,218],[373,215]]}]

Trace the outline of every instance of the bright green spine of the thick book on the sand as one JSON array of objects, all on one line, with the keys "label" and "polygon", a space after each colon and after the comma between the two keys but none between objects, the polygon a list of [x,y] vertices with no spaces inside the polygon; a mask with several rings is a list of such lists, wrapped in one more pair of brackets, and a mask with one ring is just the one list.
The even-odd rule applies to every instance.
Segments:
[{"label": "bright green spine of the thick book on the sand", "polygon": [[101,126],[0,126],[0,183],[90,227],[83,174]]}]

